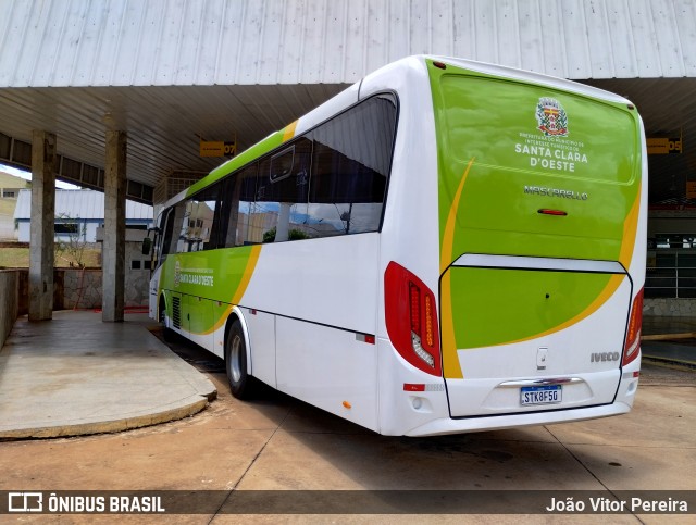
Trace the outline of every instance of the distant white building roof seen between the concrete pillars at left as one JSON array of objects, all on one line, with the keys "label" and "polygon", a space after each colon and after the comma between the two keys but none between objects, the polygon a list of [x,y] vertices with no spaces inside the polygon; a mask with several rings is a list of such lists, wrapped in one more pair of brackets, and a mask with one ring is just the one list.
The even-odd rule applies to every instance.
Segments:
[{"label": "distant white building roof seen between the concrete pillars at left", "polygon": [[[89,189],[57,189],[55,216],[65,218],[104,218],[104,195]],[[20,191],[14,210],[15,220],[32,218],[32,190]],[[127,220],[152,220],[152,207],[140,202],[126,201]]]}]

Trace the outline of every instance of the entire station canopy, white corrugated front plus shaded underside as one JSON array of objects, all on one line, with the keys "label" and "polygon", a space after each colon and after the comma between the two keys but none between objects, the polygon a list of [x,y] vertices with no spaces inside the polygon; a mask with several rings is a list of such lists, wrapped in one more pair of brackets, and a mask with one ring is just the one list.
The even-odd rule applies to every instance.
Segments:
[{"label": "entire station canopy, white corrugated front plus shaded underside", "polygon": [[648,133],[696,135],[696,0],[1,2],[0,133],[53,132],[59,153],[103,167],[104,130],[127,132],[127,177],[148,186],[222,163],[201,137],[246,149],[414,53],[592,79]]}]

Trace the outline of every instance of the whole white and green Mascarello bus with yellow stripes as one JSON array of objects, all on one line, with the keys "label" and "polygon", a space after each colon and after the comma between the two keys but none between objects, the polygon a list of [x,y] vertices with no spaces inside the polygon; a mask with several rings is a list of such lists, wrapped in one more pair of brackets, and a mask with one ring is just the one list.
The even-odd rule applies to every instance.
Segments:
[{"label": "whole white and green Mascarello bus with yellow stripes", "polygon": [[383,435],[626,413],[644,145],[617,95],[402,59],[164,204],[150,316],[235,397],[260,382]]}]

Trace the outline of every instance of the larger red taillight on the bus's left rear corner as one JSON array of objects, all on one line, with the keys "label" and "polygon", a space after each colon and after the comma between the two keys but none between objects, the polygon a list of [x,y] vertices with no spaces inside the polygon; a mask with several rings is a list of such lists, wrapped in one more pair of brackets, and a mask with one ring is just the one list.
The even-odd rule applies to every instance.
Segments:
[{"label": "larger red taillight on the bus's left rear corner", "polygon": [[417,368],[442,375],[435,296],[403,266],[391,261],[384,273],[385,316],[389,339]]}]

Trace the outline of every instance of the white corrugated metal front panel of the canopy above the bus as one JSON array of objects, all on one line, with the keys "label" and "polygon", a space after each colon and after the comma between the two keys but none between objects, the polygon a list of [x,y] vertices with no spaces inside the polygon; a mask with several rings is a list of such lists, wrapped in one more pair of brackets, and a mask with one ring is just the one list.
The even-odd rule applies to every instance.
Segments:
[{"label": "white corrugated metal front panel of the canopy above the bus", "polygon": [[696,74],[693,0],[4,0],[0,86],[353,83],[409,54]]}]

